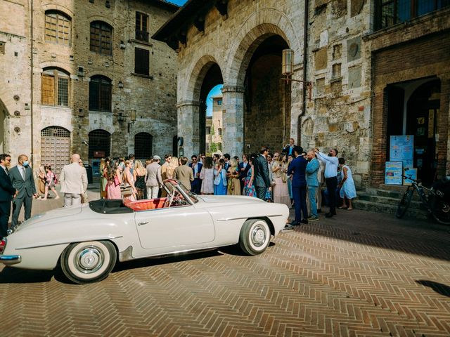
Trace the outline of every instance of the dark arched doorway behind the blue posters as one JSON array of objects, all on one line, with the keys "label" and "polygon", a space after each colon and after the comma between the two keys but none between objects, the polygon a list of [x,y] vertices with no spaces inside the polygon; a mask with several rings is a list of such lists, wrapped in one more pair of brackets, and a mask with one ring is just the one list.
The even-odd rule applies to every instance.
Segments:
[{"label": "dark arched doorway behind the blue posters", "polygon": [[413,135],[413,167],[430,185],[437,177],[441,82],[428,78],[387,86],[387,158],[390,136]]}]

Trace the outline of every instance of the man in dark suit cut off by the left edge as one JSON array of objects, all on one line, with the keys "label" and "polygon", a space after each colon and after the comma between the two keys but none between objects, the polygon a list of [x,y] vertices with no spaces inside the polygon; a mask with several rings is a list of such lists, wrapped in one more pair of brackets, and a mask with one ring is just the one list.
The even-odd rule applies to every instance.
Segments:
[{"label": "man in dark suit cut off by the left edge", "polygon": [[10,163],[11,156],[9,154],[0,154],[0,239],[6,237],[11,213],[11,199],[16,192],[8,177]]}]

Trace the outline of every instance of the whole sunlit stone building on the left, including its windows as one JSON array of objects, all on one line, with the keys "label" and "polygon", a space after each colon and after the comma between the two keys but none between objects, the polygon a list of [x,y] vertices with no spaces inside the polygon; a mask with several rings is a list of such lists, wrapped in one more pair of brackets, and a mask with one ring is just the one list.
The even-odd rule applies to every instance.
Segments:
[{"label": "whole sunlit stone building on the left, including its windows", "polygon": [[172,152],[176,53],[151,36],[177,9],[161,0],[0,1],[3,150],[57,170],[72,152],[91,162]]}]

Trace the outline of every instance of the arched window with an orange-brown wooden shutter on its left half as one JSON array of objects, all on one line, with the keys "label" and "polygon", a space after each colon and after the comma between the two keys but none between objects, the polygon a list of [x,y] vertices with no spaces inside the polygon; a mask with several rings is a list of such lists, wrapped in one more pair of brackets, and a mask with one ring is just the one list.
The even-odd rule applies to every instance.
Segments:
[{"label": "arched window with an orange-brown wooden shutter on its left half", "polygon": [[69,106],[69,74],[58,68],[46,68],[41,75],[41,104]]}]

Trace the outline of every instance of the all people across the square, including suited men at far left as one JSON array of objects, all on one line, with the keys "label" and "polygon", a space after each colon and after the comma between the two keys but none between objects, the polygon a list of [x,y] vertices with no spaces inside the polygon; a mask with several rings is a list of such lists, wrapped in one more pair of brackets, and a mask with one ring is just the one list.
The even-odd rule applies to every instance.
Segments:
[{"label": "all people across the square, including suited men at far left", "polygon": [[[324,185],[329,206],[327,218],[336,215],[338,199],[342,199],[339,209],[352,210],[352,199],[356,197],[352,170],[344,158],[338,158],[338,150],[330,149],[328,154],[319,149],[304,152],[292,138],[280,152],[272,153],[263,146],[259,154],[242,157],[194,154],[189,161],[187,157],[166,154],[164,163],[161,161],[155,155],[142,162],[134,154],[127,158],[102,159],[101,198],[134,201],[164,197],[163,181],[174,178],[195,194],[245,195],[294,207],[295,218],[288,225],[293,228],[319,220]],[[57,183],[64,194],[64,206],[87,202],[88,181],[79,154],[72,155],[72,163],[63,167],[59,179],[50,165],[40,166],[33,174],[25,154],[20,154],[18,164],[11,170],[10,163],[9,154],[0,154],[0,239],[7,234],[11,202],[12,227],[18,223],[22,206],[25,220],[30,218],[33,198],[46,200],[51,191],[58,199]]]}]

